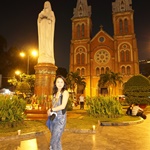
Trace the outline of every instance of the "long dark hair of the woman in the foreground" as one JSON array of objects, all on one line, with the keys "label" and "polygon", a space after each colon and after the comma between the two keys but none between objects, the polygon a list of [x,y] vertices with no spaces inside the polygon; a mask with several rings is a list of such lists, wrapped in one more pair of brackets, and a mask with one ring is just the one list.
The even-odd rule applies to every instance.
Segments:
[{"label": "long dark hair of the woman in the foreground", "polygon": [[56,87],[56,80],[58,78],[61,78],[63,81],[64,81],[64,87],[61,89],[61,93],[63,93],[65,90],[67,90],[67,82],[66,82],[66,79],[61,76],[61,75],[58,75],[56,76],[55,80],[54,80],[54,87],[53,87],[53,94],[56,94],[57,91],[58,91],[58,88]]}]

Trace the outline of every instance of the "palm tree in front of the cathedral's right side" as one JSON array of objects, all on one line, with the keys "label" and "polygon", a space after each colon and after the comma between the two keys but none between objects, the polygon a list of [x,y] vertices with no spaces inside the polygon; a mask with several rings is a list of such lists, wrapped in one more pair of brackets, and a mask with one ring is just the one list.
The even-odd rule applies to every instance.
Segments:
[{"label": "palm tree in front of the cathedral's right side", "polygon": [[98,87],[107,87],[109,95],[113,93],[111,89],[117,86],[117,82],[122,83],[122,76],[120,73],[114,73],[112,71],[106,71],[105,74],[100,75],[100,80],[98,81]]}]

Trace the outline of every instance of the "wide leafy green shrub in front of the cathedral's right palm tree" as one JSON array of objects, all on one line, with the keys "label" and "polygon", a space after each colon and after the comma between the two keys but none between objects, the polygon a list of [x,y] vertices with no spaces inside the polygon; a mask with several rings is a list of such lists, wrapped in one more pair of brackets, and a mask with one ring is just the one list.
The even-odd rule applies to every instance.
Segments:
[{"label": "wide leafy green shrub in front of the cathedral's right palm tree", "polygon": [[88,113],[95,117],[117,118],[123,114],[119,101],[110,96],[87,97],[86,104]]}]

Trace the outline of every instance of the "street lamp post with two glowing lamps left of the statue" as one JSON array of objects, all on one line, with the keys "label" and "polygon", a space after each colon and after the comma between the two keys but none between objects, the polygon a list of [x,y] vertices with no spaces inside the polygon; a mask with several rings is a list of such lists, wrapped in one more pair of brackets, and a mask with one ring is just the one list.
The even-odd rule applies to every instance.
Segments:
[{"label": "street lamp post with two glowing lamps left of the statue", "polygon": [[27,54],[24,52],[20,53],[21,57],[25,57],[26,55],[27,55],[27,74],[29,74],[30,73],[29,72],[30,71],[30,55],[37,57],[38,52],[36,50],[32,50],[30,55],[29,55],[29,53],[27,53]]}]

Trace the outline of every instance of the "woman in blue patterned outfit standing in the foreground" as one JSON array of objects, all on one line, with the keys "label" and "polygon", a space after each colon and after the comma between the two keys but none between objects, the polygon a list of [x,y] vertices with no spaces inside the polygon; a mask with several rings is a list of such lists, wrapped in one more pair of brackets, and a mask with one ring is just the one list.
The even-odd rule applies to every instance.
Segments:
[{"label": "woman in blue patterned outfit standing in the foreground", "polygon": [[48,116],[52,112],[56,113],[56,117],[50,124],[50,150],[62,150],[61,136],[66,125],[66,105],[68,98],[69,93],[67,91],[66,80],[63,76],[59,75],[54,81],[52,108],[47,111]]}]

